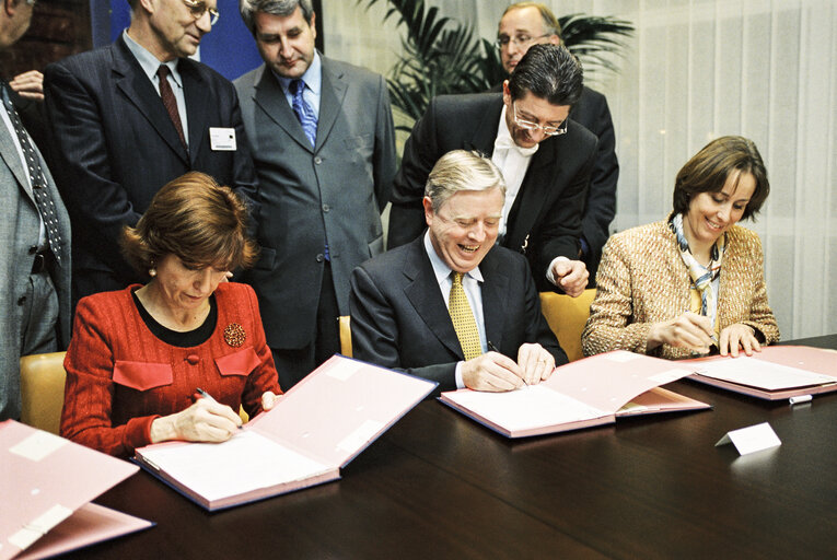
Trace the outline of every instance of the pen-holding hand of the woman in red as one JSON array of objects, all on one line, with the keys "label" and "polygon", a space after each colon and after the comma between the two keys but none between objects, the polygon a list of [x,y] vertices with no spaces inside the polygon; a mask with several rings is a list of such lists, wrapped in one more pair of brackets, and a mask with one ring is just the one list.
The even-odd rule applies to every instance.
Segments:
[{"label": "pen-holding hand of the woman in red", "polygon": [[199,398],[189,408],[151,422],[151,442],[224,442],[239,431],[241,417],[226,405]]}]

